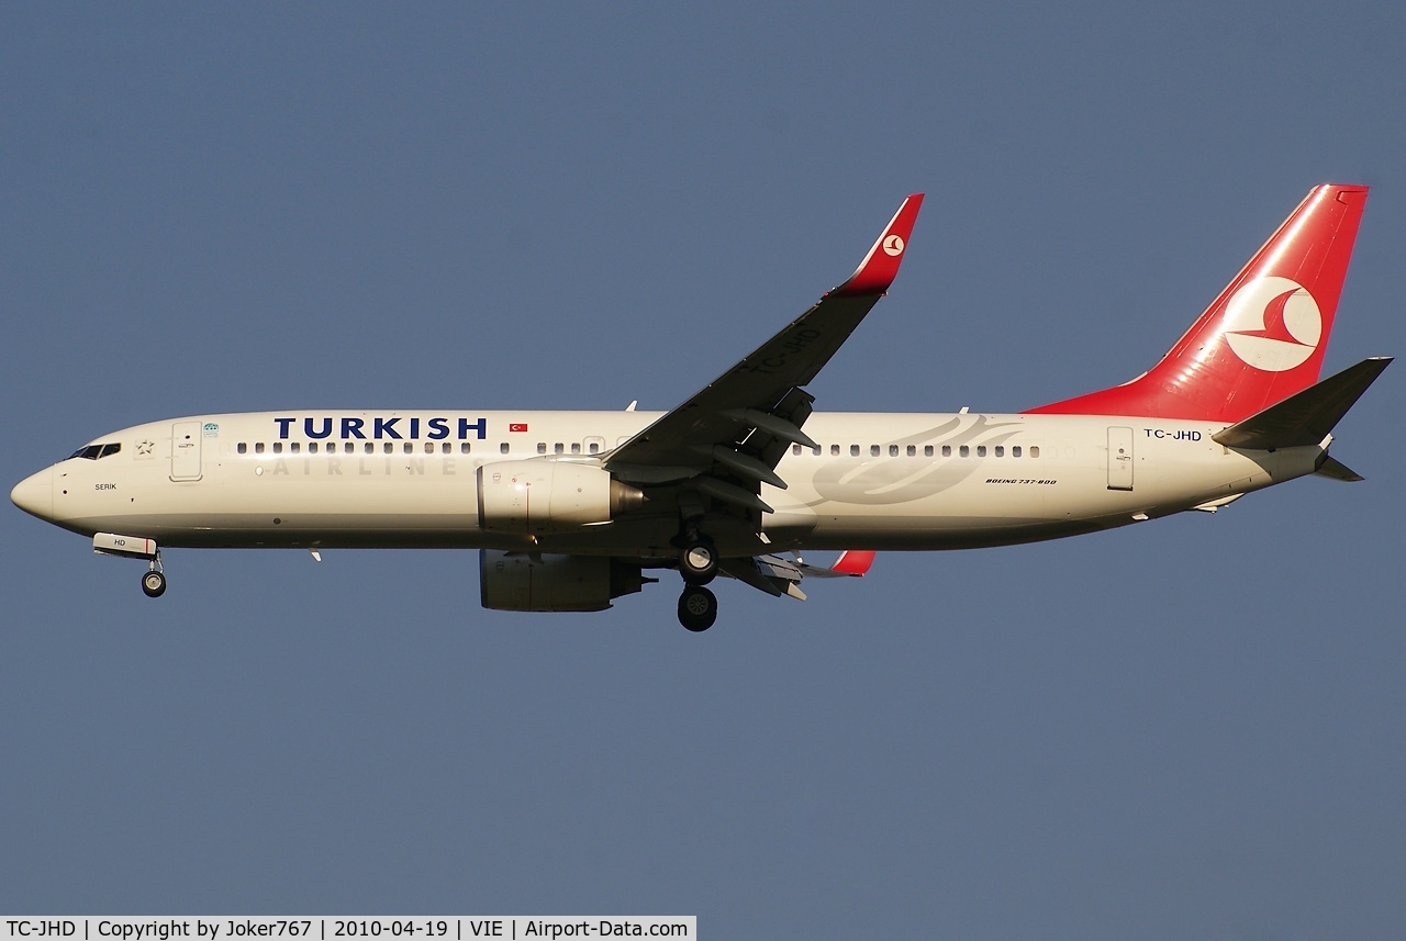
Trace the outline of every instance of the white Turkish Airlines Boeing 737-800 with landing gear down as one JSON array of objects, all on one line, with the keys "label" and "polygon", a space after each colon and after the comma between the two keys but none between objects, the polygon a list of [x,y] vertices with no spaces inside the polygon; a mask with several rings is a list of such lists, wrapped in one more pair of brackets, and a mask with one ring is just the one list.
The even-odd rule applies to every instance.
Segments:
[{"label": "white Turkish Airlines Boeing 737-800 with landing gear down", "polygon": [[[727,576],[804,600],[877,551],[969,549],[1215,513],[1319,475],[1391,362],[1319,381],[1367,187],[1324,184],[1147,372],[1014,414],[814,412],[806,386],[898,272],[922,194],[855,272],[666,413],[207,414],[122,428],[18,483],[25,513],[148,563],[163,548],[474,548],[484,607],[599,611],[683,580],[717,619]],[[830,567],[803,551],[844,551]]]}]

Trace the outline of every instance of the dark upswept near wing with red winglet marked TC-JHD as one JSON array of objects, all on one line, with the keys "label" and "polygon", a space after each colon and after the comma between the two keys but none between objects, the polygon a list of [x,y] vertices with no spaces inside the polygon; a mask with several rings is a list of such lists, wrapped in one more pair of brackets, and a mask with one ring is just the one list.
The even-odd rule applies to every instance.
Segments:
[{"label": "dark upswept near wing with red winglet marked TC-JHD", "polygon": [[695,479],[709,499],[769,511],[761,483],[786,483],[775,468],[792,444],[815,447],[801,431],[815,378],[893,284],[922,194],[903,201],[859,268],[735,367],[610,452],[605,465],[624,480]]}]

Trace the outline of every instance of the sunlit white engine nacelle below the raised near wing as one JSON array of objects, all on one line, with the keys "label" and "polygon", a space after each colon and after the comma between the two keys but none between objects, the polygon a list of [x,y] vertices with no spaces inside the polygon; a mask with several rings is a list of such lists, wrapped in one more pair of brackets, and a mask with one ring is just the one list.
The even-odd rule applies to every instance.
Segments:
[{"label": "sunlit white engine nacelle below the raised near wing", "polygon": [[644,501],[593,463],[498,461],[478,469],[478,525],[489,532],[561,532],[610,522]]}]

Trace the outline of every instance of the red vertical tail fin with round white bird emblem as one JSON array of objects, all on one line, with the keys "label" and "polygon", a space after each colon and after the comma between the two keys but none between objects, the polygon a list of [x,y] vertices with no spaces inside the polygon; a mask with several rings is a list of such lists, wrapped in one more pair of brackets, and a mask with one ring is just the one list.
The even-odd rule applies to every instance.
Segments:
[{"label": "red vertical tail fin with round white bird emblem", "polygon": [[1367,187],[1315,187],[1161,362],[1033,414],[1240,421],[1317,382]]}]

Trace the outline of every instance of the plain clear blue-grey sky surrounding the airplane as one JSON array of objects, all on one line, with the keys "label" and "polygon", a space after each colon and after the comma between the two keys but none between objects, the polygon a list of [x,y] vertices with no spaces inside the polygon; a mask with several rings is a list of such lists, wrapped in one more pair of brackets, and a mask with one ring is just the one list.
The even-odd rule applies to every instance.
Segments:
[{"label": "plain clear blue-grey sky surrounding the airplane", "polygon": [[[668,409],[912,191],[820,409],[1128,379],[1322,181],[1372,185],[1326,368],[1406,351],[1399,7],[934,7],[0,8],[6,486],[181,414]],[[1365,483],[702,636],[669,583],[482,611],[468,552],[172,552],[152,603],[11,507],[0,910],[1399,935],[1402,388]]]}]

